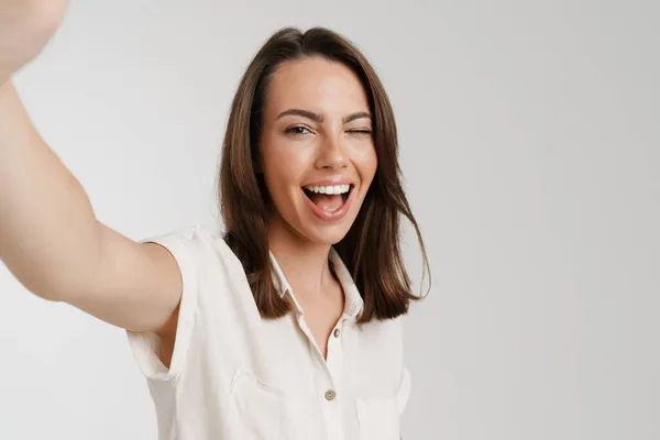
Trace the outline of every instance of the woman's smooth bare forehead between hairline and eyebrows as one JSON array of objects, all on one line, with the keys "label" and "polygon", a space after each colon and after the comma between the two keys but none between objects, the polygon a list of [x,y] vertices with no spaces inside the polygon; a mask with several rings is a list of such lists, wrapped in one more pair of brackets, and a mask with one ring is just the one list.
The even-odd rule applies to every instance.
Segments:
[{"label": "woman's smooth bare forehead between hairline and eyebrows", "polygon": [[318,112],[367,111],[367,97],[358,76],[345,65],[321,57],[280,64],[266,94],[266,112],[302,108]]}]

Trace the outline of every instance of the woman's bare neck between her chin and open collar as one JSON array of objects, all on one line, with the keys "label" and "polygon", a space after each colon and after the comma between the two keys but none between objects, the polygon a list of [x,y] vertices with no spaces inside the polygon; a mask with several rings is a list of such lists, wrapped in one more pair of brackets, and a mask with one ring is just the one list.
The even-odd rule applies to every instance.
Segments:
[{"label": "woman's bare neck between her chin and open collar", "polygon": [[330,245],[310,242],[282,223],[277,220],[268,223],[268,248],[296,296],[317,296],[330,292]]}]

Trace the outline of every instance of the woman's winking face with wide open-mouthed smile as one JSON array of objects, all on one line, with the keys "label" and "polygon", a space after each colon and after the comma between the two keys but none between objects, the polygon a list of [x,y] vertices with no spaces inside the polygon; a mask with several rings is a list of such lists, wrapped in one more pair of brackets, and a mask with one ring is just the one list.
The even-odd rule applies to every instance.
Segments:
[{"label": "woman's winking face with wide open-mouthed smile", "polygon": [[321,57],[283,63],[266,92],[260,154],[274,204],[270,229],[314,243],[343,239],[377,166],[358,76]]}]

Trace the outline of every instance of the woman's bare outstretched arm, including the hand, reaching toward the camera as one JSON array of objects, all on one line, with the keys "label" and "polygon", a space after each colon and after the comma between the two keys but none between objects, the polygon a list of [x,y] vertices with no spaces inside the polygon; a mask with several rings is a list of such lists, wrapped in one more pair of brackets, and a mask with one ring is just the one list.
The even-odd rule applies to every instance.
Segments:
[{"label": "woman's bare outstretched arm, including the hand, reaching toward the camera", "polygon": [[176,261],[96,219],[11,82],[55,32],[63,10],[59,0],[0,0],[0,258],[44,299],[125,329],[173,336],[182,295]]}]

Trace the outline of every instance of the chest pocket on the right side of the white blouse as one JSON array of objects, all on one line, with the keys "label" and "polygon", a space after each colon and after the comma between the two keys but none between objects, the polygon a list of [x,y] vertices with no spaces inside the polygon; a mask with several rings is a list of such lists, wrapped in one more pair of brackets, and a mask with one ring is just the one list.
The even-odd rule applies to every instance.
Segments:
[{"label": "chest pocket on the right side of the white blouse", "polygon": [[410,395],[410,374],[404,376],[395,396],[387,398],[356,399],[360,440],[399,440],[400,415]]}]

